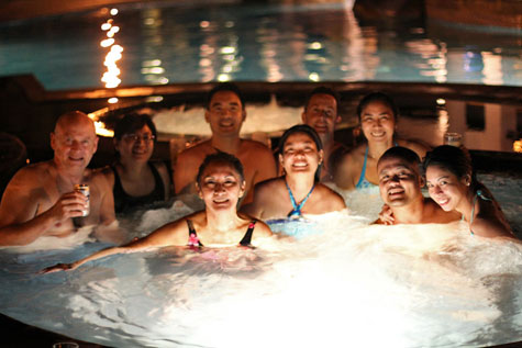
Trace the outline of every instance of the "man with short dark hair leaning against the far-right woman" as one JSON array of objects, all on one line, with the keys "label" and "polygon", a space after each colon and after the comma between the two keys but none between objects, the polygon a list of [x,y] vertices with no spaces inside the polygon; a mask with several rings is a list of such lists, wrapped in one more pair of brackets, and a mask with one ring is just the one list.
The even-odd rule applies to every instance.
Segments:
[{"label": "man with short dark hair leaning against the far-right woman", "polygon": [[[421,188],[424,179],[420,173],[419,156],[409,148],[389,148],[377,162],[380,197],[389,211],[388,224],[449,223],[458,214],[444,212],[432,199],[424,198]],[[386,209],[385,209],[386,211]],[[384,217],[377,224],[384,224]]]}]

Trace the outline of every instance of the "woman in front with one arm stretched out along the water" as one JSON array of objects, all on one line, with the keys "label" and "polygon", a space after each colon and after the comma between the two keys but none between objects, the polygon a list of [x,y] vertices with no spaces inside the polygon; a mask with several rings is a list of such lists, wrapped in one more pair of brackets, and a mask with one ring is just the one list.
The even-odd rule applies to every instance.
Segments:
[{"label": "woman in front with one arm stretched out along the water", "polygon": [[207,156],[199,168],[196,186],[204,202],[203,211],[168,223],[144,238],[103,249],[73,263],[48,267],[43,272],[75,269],[109,255],[158,247],[251,246],[254,228],[255,238],[271,236],[264,222],[237,212],[237,202],[245,192],[245,180],[243,166],[236,157],[225,153]]}]

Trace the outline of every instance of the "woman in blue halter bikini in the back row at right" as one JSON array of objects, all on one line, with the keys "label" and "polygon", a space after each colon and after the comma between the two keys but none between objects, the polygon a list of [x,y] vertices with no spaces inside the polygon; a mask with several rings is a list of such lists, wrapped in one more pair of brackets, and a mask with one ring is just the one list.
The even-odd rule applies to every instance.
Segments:
[{"label": "woman in blue halter bikini in the back row at right", "polygon": [[377,161],[390,147],[402,146],[423,158],[427,148],[419,143],[396,136],[398,109],[385,93],[374,92],[363,98],[357,106],[360,131],[366,142],[341,158],[334,173],[337,187],[344,190],[378,188]]}]

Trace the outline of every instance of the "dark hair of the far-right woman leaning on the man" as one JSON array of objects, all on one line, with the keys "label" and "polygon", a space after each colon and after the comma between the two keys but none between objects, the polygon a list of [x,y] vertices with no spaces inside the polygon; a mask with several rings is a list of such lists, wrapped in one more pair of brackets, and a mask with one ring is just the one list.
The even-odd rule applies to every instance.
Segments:
[{"label": "dark hair of the far-right woman leaning on the man", "polygon": [[431,166],[447,170],[458,179],[469,176],[471,179],[469,187],[474,192],[478,189],[485,189],[484,184],[477,180],[475,170],[473,169],[471,156],[464,148],[451,145],[435,147],[433,150],[426,153],[426,157],[422,162],[424,173]]}]

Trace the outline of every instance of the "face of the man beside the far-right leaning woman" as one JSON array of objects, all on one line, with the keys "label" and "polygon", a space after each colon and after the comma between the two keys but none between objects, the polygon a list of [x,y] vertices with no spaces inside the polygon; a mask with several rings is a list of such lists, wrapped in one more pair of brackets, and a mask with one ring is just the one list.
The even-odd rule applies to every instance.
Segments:
[{"label": "face of the man beside the far-right leaning woman", "polygon": [[377,166],[382,201],[390,206],[403,206],[420,197],[422,179],[419,169],[402,158],[385,158]]}]

